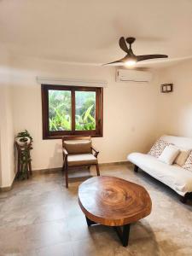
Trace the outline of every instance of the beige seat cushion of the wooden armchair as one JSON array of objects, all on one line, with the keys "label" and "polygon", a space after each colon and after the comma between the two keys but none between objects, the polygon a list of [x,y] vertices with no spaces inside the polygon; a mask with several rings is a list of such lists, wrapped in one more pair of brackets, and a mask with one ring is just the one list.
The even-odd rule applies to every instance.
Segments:
[{"label": "beige seat cushion of the wooden armchair", "polygon": [[68,166],[86,166],[97,164],[97,159],[93,154],[69,154],[67,156]]}]

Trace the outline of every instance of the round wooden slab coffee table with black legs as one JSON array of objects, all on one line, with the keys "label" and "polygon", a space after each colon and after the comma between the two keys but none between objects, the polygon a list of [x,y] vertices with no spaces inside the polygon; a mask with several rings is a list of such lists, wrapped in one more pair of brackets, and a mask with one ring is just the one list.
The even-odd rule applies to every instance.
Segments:
[{"label": "round wooden slab coffee table with black legs", "polygon": [[146,189],[119,177],[91,177],[79,186],[79,206],[87,224],[113,226],[123,246],[130,224],[148,216],[151,199]]}]

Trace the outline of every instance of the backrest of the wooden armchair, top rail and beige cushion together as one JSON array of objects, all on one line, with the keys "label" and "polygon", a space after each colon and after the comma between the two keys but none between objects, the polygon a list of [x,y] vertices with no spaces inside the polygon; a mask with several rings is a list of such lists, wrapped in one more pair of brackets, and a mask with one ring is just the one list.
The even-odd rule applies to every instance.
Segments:
[{"label": "backrest of the wooden armchair, top rail and beige cushion together", "polygon": [[68,154],[90,154],[91,153],[91,137],[62,137],[62,147]]}]

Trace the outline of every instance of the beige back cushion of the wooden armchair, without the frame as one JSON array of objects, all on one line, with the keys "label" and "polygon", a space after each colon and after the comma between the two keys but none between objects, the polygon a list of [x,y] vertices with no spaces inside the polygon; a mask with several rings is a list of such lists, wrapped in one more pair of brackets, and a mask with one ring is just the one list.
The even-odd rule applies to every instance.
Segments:
[{"label": "beige back cushion of the wooden armchair, without the frame", "polygon": [[91,153],[90,140],[65,141],[63,144],[68,154],[90,154]]}]

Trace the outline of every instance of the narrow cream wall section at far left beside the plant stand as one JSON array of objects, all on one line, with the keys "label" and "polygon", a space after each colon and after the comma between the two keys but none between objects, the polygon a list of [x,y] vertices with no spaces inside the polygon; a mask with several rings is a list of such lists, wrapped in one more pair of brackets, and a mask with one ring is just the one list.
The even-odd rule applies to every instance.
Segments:
[{"label": "narrow cream wall section at far left beside the plant stand", "polygon": [[0,187],[9,187],[15,177],[15,131],[9,64],[9,53],[4,50],[0,54]]}]

